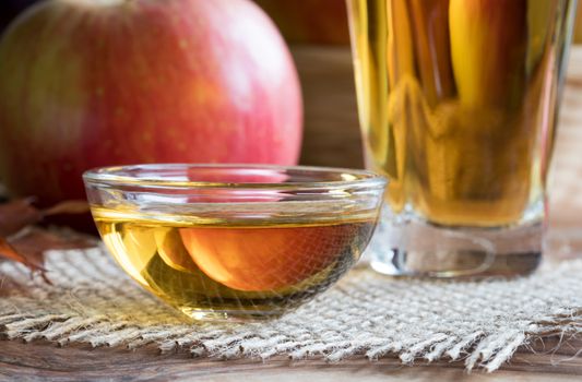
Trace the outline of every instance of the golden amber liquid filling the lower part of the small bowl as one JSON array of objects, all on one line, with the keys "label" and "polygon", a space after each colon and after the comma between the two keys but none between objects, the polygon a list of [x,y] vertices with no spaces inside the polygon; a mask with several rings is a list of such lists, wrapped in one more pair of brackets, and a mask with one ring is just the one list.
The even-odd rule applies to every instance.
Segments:
[{"label": "golden amber liquid filling the lower part of the small bowl", "polygon": [[347,272],[376,225],[373,214],[222,220],[94,207],[93,215],[123,270],[194,319],[281,315]]}]

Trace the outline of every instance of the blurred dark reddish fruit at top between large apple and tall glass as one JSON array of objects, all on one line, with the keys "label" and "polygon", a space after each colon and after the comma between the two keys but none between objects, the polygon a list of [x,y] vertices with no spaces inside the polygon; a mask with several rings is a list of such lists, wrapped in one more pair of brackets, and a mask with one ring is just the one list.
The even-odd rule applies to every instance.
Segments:
[{"label": "blurred dark reddish fruit at top between large apple and tall glass", "polygon": [[254,0],[289,43],[349,44],[345,0]]}]

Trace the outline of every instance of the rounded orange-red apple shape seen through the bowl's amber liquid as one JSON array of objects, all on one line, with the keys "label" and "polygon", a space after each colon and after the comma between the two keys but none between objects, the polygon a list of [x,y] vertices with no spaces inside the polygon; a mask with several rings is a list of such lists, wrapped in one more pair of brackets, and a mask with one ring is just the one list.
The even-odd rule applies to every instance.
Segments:
[{"label": "rounded orange-red apple shape seen through the bowl's amber liquid", "polygon": [[247,291],[276,290],[300,283],[337,259],[345,250],[345,239],[351,237],[343,227],[331,226],[181,228],[180,236],[192,260],[209,277]]}]

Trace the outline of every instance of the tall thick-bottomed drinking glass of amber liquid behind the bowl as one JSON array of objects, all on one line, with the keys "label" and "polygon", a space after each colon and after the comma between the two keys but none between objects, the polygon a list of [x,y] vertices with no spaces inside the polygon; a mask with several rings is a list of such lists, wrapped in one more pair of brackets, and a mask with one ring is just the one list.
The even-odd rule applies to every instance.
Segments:
[{"label": "tall thick-bottomed drinking glass of amber liquid behind the bowl", "polygon": [[347,0],[366,163],[393,275],[526,274],[575,0]]}]

